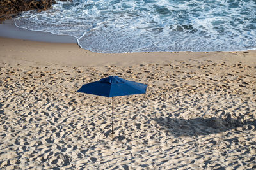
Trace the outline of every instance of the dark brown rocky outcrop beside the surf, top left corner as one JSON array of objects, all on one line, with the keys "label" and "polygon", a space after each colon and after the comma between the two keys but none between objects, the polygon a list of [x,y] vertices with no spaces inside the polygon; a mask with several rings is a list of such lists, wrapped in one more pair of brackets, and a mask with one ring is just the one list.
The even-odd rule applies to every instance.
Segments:
[{"label": "dark brown rocky outcrop beside the surf, top left corner", "polygon": [[55,0],[1,0],[0,20],[13,18],[22,11],[28,10],[48,10]]}]

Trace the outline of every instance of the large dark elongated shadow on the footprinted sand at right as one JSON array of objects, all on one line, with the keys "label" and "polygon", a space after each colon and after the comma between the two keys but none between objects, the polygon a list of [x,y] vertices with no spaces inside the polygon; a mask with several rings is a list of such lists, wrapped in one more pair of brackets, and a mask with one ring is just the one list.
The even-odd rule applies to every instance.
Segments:
[{"label": "large dark elongated shadow on the footprinted sand at right", "polygon": [[230,116],[227,118],[193,118],[193,119],[180,119],[180,118],[155,118],[159,125],[159,129],[175,137],[179,136],[198,136],[225,132],[231,129],[242,127],[243,129],[255,129],[255,121],[244,121],[241,119],[234,119]]}]

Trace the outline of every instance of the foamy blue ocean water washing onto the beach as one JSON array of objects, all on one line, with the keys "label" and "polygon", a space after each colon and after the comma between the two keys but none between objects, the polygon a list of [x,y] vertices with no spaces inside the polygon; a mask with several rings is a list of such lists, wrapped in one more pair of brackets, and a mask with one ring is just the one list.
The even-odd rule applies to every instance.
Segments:
[{"label": "foamy blue ocean water washing onto the beach", "polygon": [[256,0],[73,0],[15,25],[74,36],[100,53],[256,48]]}]

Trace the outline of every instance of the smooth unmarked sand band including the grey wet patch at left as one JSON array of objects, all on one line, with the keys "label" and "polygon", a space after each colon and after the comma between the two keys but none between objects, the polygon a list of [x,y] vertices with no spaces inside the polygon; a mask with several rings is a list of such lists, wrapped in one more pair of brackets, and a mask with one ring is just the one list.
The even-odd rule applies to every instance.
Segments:
[{"label": "smooth unmarked sand band including the grey wet patch at left", "polygon": [[[13,20],[0,24],[0,61],[23,64],[60,66],[134,66],[164,64],[174,60],[212,59],[243,60],[256,65],[256,50],[237,52],[133,52],[95,53],[81,48],[72,36],[61,36],[42,31],[21,29]],[[13,57],[15,56],[15,57]],[[246,57],[242,57],[246,56]],[[1,64],[2,65],[2,64]]]}]

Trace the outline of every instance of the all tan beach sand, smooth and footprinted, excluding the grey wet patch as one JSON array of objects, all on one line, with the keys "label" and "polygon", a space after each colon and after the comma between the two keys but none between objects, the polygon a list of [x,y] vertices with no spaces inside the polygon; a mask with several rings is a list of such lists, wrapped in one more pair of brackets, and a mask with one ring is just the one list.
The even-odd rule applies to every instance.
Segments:
[{"label": "all tan beach sand, smooth and footprinted, excluding the grey wet patch", "polygon": [[[1,169],[255,169],[256,52],[100,54],[0,38]],[[147,94],[77,93],[114,75]]]}]

